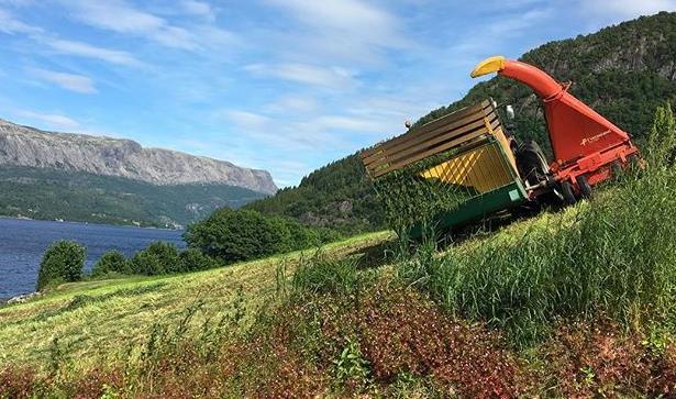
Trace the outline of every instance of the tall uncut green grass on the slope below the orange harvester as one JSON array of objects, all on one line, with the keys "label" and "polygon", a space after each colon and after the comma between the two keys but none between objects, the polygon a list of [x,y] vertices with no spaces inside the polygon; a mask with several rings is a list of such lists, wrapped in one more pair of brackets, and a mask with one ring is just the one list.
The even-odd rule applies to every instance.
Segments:
[{"label": "tall uncut green grass on the slope below the orange harvester", "polygon": [[509,239],[443,256],[423,245],[399,274],[447,311],[506,329],[519,345],[558,318],[676,321],[676,168],[668,159],[627,173],[589,202],[508,230]]}]

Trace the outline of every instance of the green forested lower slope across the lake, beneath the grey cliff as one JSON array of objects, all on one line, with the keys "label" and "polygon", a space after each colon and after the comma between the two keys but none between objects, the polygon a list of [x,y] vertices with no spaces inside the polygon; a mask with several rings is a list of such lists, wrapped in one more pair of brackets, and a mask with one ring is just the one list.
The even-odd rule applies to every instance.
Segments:
[{"label": "green forested lower slope across the lake, beneath the grey cliff", "polygon": [[264,196],[225,185],[155,186],[80,171],[0,168],[0,214],[9,217],[170,228]]}]

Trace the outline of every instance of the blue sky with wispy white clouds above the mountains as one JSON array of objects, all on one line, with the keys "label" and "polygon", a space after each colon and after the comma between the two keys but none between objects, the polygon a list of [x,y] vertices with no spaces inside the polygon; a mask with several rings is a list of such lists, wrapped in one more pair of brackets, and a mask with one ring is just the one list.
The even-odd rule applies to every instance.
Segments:
[{"label": "blue sky with wispy white clouds above the mountains", "polygon": [[269,170],[279,186],[518,57],[676,0],[0,0],[0,118]]}]

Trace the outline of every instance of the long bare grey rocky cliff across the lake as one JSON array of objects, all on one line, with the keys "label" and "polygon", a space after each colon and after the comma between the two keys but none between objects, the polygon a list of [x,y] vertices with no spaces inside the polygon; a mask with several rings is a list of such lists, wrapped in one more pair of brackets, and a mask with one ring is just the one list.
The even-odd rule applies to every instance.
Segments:
[{"label": "long bare grey rocky cliff across the lake", "polygon": [[274,193],[266,170],[160,148],[131,140],[43,132],[0,120],[0,165],[120,176],[155,185],[224,184]]}]

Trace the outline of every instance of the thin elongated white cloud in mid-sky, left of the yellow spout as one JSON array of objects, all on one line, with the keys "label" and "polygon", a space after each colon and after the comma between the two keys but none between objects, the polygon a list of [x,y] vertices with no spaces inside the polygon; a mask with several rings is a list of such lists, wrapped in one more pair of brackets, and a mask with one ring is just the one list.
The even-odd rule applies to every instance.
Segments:
[{"label": "thin elongated white cloud in mid-sky, left of the yellow spout", "polygon": [[345,89],[355,85],[355,74],[340,67],[323,68],[307,64],[253,64],[244,69],[258,76],[271,76],[311,86]]}]

